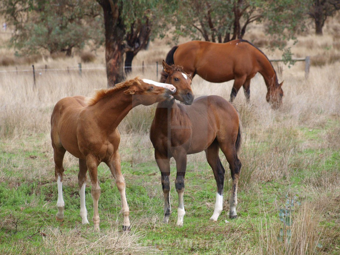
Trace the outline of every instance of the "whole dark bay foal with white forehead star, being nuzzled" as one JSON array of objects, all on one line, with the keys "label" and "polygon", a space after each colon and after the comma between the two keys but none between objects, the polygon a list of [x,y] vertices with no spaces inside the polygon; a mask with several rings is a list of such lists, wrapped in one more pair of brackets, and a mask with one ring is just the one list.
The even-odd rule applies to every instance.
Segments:
[{"label": "whole dark bay foal with white forehead star, being nuzzled", "polygon": [[[179,71],[181,70],[179,67],[168,66],[165,62],[163,62],[163,67],[161,81],[173,84],[176,87],[174,98],[186,104],[175,103],[174,99],[158,103],[150,129],[150,139],[155,148],[155,159],[162,175],[163,222],[169,222],[171,213],[170,158],[173,157],[176,161],[175,187],[179,199],[177,225],[181,226],[185,215],[183,192],[187,154],[201,151],[205,151],[217,184],[214,214],[210,218],[214,221],[217,220],[222,211],[225,173],[219,158],[220,148],[229,163],[233,179],[229,217],[236,218],[237,185],[241,169],[241,162],[237,157],[241,143],[238,112],[231,103],[220,96],[200,97],[194,101],[192,101],[193,96],[190,96],[190,100],[187,100],[186,95],[192,95],[191,81],[189,78],[185,79],[186,74],[183,69]],[[185,79],[187,84],[185,82],[174,83],[173,77],[180,80]],[[180,95],[185,95],[185,97]]]}]

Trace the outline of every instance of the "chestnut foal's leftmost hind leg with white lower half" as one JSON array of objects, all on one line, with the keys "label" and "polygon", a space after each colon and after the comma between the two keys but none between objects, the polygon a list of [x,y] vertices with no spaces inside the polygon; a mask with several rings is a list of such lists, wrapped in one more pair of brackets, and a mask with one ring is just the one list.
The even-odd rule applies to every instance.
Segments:
[{"label": "chestnut foal's leftmost hind leg with white lower half", "polygon": [[54,176],[55,180],[57,181],[58,185],[58,200],[57,200],[57,208],[58,212],[56,214],[55,219],[58,221],[62,221],[64,219],[64,207],[65,202],[63,199],[63,174],[64,174],[64,167],[63,167],[63,159],[66,150],[61,146],[57,147],[54,145],[52,141],[53,146],[53,158],[54,158]]}]

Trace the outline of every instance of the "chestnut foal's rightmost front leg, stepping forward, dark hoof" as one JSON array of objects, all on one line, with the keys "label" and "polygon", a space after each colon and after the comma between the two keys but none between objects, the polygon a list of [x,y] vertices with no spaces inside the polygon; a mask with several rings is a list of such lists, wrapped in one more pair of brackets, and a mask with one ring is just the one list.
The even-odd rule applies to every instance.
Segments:
[{"label": "chestnut foal's rightmost front leg, stepping forward, dark hoof", "polygon": [[125,179],[120,170],[120,156],[118,151],[116,151],[111,157],[109,162],[106,162],[106,165],[110,168],[113,177],[116,180],[116,185],[120,194],[120,200],[122,202],[122,215],[123,215],[123,230],[130,230],[130,209],[128,206],[128,202],[126,201],[125,194]]}]

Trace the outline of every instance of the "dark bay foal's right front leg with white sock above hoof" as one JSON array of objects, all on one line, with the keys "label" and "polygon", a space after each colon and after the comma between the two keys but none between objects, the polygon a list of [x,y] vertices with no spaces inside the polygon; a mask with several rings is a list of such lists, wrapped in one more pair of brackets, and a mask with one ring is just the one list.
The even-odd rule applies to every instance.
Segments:
[{"label": "dark bay foal's right front leg with white sock above hoof", "polygon": [[186,152],[179,153],[175,158],[177,175],[175,180],[175,187],[178,194],[178,208],[177,208],[177,226],[183,226],[183,219],[185,215],[184,210],[184,176],[187,168],[187,155]]}]

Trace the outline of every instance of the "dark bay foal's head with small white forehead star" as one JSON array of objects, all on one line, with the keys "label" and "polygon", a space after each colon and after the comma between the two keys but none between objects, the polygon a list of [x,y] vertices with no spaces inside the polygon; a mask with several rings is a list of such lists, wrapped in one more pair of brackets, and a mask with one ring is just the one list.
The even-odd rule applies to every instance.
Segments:
[{"label": "dark bay foal's head with small white forehead star", "polygon": [[172,84],[176,87],[173,97],[185,104],[192,104],[194,94],[191,90],[190,75],[184,72],[182,66],[168,65],[163,60],[163,68],[161,82]]}]

